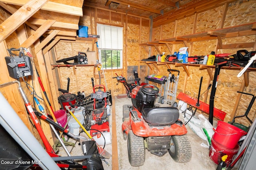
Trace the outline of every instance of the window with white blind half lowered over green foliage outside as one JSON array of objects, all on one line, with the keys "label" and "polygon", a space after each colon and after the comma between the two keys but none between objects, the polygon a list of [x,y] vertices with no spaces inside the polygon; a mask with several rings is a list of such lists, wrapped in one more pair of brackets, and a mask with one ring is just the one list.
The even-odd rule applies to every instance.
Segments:
[{"label": "window with white blind half lowered over green foliage outside", "polygon": [[122,68],[123,27],[97,24],[97,34],[102,68]]}]

